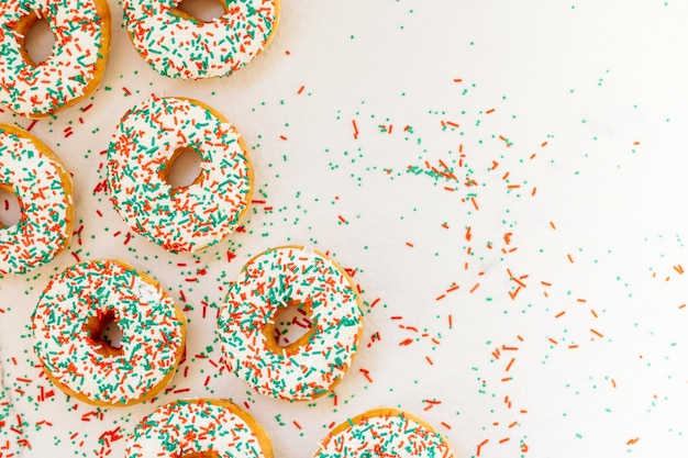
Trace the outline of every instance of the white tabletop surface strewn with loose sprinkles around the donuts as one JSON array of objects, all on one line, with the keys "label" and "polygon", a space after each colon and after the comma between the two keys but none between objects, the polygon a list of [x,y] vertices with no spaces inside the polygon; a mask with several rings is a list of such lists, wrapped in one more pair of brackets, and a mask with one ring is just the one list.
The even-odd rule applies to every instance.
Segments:
[{"label": "white tabletop surface strewn with loose sprinkles around the donuts", "polygon": [[[311,455],[333,422],[379,405],[425,418],[462,458],[685,455],[688,4],[284,0],[255,63],[199,82],[151,70],[110,7],[101,88],[32,126],[74,174],[84,230],[48,266],[0,280],[8,424],[21,415],[31,448],[7,428],[0,444],[7,435],[27,458],[119,457],[125,437],[99,443],[103,432],[126,436],[177,398],[221,396],[249,407],[279,458]],[[243,133],[265,201],[245,233],[195,256],[124,244],[126,225],[92,190],[119,118],[151,93],[197,98]],[[440,160],[456,180],[409,171]],[[336,405],[266,399],[209,362],[228,282],[285,243],[357,269],[364,345]],[[58,392],[36,401],[52,387],[33,367],[30,316],[76,257],[124,259],[193,308],[189,358],[155,402],[91,415]]]}]

